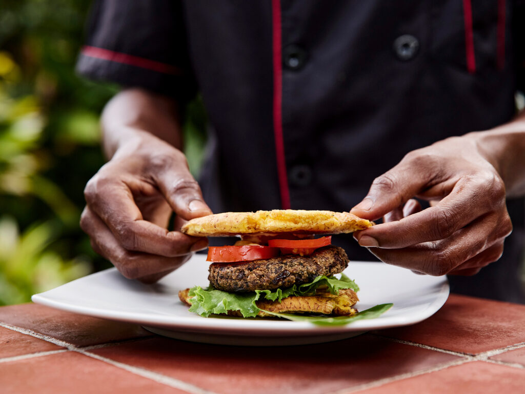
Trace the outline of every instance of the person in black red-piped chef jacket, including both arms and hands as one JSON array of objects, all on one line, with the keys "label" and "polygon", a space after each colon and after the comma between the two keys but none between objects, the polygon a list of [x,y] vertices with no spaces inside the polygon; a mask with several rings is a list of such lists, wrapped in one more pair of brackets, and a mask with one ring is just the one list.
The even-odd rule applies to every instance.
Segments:
[{"label": "person in black red-piped chef jacket, including both arms and hands", "polygon": [[[207,246],[177,231],[193,217],[354,207],[384,223],[355,235],[366,248],[334,240],[352,260],[524,302],[524,8],[95,2],[77,69],[123,89],[102,114],[109,161],[86,186],[81,226],[125,276],[153,282]],[[181,138],[197,94],[209,120],[198,184]]]}]

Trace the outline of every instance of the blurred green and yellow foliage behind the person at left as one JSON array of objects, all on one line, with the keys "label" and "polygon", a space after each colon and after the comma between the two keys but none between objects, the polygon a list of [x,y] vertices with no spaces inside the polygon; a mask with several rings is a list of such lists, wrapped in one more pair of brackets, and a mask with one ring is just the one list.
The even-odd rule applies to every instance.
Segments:
[{"label": "blurred green and yellow foliage behind the person at left", "polygon": [[[90,0],[0,0],[0,305],[107,268],[79,228],[83,188],[104,162],[99,113],[118,87],[75,61]],[[205,113],[195,99],[185,151],[197,175]]]}]

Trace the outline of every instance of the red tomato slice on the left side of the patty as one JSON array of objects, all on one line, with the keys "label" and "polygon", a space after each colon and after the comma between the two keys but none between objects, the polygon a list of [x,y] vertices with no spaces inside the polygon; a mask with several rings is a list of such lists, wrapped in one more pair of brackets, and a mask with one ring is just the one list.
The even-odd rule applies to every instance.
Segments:
[{"label": "red tomato slice on the left side of the patty", "polygon": [[211,246],[208,247],[208,258],[206,260],[214,263],[235,263],[238,261],[265,260],[278,255],[278,247],[262,245]]}]

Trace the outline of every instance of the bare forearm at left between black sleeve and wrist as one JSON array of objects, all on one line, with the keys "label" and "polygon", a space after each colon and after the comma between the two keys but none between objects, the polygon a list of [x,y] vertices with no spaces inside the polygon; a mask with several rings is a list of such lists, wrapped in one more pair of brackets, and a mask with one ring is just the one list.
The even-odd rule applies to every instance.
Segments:
[{"label": "bare forearm at left between black sleeve and wrist", "polygon": [[123,90],[107,103],[102,113],[104,152],[110,159],[124,143],[141,143],[144,133],[182,149],[180,119],[174,99],[142,89]]}]

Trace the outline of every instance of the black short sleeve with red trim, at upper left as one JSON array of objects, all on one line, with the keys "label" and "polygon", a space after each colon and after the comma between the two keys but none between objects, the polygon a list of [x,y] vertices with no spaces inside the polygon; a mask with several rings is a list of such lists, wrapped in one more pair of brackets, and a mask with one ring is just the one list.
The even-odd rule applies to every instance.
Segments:
[{"label": "black short sleeve with red trim, at upper left", "polygon": [[196,91],[180,1],[97,0],[77,71],[187,100]]}]

